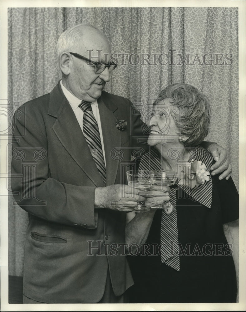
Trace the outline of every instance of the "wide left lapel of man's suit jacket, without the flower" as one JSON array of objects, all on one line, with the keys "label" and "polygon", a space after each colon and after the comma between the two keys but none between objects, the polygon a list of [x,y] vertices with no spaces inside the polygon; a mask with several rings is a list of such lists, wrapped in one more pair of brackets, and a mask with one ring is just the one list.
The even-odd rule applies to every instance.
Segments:
[{"label": "wide left lapel of man's suit jacket, without the flower", "polygon": [[97,187],[103,187],[100,173],[76,116],[62,93],[60,82],[50,94],[48,114],[57,117],[52,128],[66,151]]}]

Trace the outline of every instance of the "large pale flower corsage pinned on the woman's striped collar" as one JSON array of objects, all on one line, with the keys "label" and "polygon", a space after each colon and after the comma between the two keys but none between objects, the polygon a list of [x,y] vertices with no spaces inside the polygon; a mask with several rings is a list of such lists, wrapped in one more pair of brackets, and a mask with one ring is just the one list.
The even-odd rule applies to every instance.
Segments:
[{"label": "large pale flower corsage pinned on the woman's striped collar", "polygon": [[182,170],[179,184],[194,188],[196,185],[204,184],[209,181],[210,173],[206,171],[206,166],[200,160],[191,160],[191,163],[185,164],[185,170]]}]

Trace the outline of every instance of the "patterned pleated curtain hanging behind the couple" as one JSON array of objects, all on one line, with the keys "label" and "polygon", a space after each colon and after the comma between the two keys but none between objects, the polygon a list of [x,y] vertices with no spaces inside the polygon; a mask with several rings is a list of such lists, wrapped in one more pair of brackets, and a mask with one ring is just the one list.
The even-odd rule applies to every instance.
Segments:
[{"label": "patterned pleated curtain hanging behind the couple", "polygon": [[[141,110],[174,82],[194,85],[209,97],[207,140],[229,150],[238,187],[238,9],[9,8],[8,99],[14,109],[57,84],[56,41],[81,22],[99,28],[118,56],[106,91]],[[9,274],[21,276],[27,213],[12,203],[10,196]]]}]

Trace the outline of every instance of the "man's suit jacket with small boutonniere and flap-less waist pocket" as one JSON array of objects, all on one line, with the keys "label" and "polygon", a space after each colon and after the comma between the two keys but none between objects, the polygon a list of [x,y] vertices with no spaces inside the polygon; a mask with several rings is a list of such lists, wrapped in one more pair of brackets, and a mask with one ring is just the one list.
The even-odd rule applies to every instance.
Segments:
[{"label": "man's suit jacket with small boutonniere and flap-less waist pocket", "polygon": [[[131,106],[107,92],[98,99],[107,185],[124,183],[136,138],[131,131],[142,131]],[[124,131],[116,128],[118,117],[128,122]],[[104,185],[60,83],[19,108],[13,138],[12,190],[29,216],[24,295],[47,303],[98,302],[108,268],[115,295],[123,294],[133,281],[122,246],[112,244],[125,242],[125,213],[94,208],[95,188]],[[104,243],[116,251],[106,255]]]}]

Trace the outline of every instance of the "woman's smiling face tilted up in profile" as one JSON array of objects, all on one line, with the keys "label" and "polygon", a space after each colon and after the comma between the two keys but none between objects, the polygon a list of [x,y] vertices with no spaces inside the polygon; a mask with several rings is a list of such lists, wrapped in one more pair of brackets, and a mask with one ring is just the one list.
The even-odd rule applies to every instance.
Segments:
[{"label": "woman's smiling face tilted up in profile", "polygon": [[166,98],[153,108],[149,121],[150,135],[148,138],[148,144],[151,146],[159,146],[165,143],[175,145],[178,142],[180,131],[174,121],[176,117],[173,117],[170,111],[177,113],[179,108],[173,106],[171,102],[173,102],[172,99]]}]

